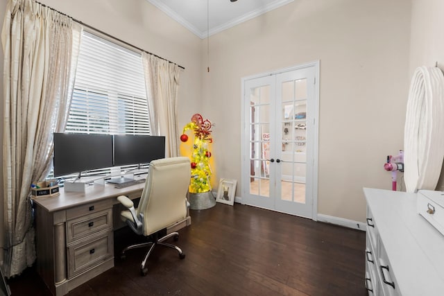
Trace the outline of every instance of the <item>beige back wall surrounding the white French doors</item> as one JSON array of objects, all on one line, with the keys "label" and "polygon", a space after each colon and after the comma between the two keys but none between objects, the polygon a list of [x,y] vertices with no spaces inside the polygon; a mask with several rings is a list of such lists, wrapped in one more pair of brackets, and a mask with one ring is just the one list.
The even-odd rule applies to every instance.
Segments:
[{"label": "beige back wall surrounding the white French doors", "polygon": [[298,0],[211,36],[213,181],[238,180],[241,196],[241,78],[320,60],[318,213],[364,221],[362,187],[391,189],[383,164],[403,145],[410,10],[405,0]]}]

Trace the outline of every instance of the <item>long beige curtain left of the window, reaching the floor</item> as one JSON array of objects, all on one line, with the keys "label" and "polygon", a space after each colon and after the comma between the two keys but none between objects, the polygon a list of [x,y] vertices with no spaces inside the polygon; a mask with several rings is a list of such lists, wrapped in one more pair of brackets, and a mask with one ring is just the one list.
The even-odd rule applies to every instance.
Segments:
[{"label": "long beige curtain left of the window, reaching the floor", "polygon": [[52,133],[65,128],[80,32],[69,17],[35,1],[8,1],[1,32],[7,277],[19,275],[35,261],[30,185],[46,176]]}]

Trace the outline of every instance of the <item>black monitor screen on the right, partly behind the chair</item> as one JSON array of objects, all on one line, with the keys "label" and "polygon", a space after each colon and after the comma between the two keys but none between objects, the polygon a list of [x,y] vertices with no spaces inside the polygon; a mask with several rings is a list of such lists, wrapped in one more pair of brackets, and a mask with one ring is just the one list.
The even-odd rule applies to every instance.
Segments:
[{"label": "black monitor screen on the right, partly behind the chair", "polygon": [[145,164],[165,158],[165,137],[136,134],[114,136],[114,166]]}]

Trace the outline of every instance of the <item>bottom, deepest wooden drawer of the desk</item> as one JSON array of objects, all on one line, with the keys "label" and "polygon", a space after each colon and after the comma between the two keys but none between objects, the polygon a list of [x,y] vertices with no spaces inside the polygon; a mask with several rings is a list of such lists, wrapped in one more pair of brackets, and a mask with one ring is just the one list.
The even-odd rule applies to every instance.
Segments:
[{"label": "bottom, deepest wooden drawer of the desk", "polygon": [[111,231],[68,246],[68,279],[112,257],[113,246]]}]

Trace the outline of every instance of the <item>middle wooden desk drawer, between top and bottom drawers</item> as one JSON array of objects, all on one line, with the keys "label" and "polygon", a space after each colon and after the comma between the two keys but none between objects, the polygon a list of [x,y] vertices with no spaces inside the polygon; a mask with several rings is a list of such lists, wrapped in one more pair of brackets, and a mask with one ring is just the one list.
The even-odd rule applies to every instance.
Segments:
[{"label": "middle wooden desk drawer, between top and bottom drawers", "polygon": [[67,221],[67,244],[105,229],[112,229],[112,209]]}]

